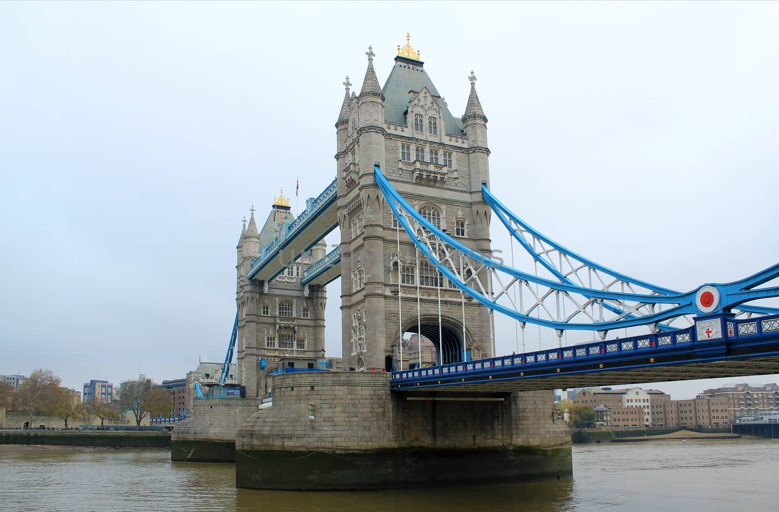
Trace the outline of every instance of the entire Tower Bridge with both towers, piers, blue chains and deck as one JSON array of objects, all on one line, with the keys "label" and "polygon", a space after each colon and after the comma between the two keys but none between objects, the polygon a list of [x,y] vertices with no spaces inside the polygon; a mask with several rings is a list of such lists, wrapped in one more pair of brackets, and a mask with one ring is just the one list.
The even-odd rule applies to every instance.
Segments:
[{"label": "entire Tower Bridge with both towers, piers, blue chains and deck", "polygon": [[[569,430],[545,390],[779,373],[779,310],[754,303],[779,296],[765,286],[779,265],[678,292],[569,251],[491,191],[474,72],[454,117],[410,40],[383,86],[372,47],[366,56],[360,93],[344,82],[333,182],[297,218],[283,194],[259,229],[252,207],[241,230],[225,364],[234,345],[245,398],[196,401],[174,458],[234,457],[238,486],[269,489],[567,475]],[[493,258],[494,218],[534,272]],[[339,276],[344,368],[355,371],[284,371],[316,369],[326,285]],[[495,314],[522,335],[553,331],[558,346],[497,356]],[[622,328],[633,335],[609,338]],[[563,346],[566,331],[594,341]],[[435,366],[408,357],[407,333],[431,339]]]}]

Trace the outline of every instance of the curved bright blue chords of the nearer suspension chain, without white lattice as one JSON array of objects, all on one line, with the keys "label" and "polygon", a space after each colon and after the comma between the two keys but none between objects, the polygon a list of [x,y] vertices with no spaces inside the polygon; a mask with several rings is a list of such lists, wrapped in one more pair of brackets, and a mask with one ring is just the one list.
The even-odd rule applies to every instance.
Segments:
[{"label": "curved bright blue chords of the nearer suspension chain, without white lattice", "polygon": [[[554,328],[559,331],[566,329],[580,331],[608,331],[615,328],[628,328],[637,325],[657,324],[659,321],[663,321],[668,318],[679,317],[683,314],[719,313],[723,312],[724,310],[729,310],[731,307],[735,307],[738,304],[748,300],[779,296],[779,287],[757,290],[751,289],[754,286],[763,284],[763,282],[767,282],[770,279],[779,277],[779,264],[767,268],[762,272],[758,272],[756,275],[750,276],[749,278],[742,279],[742,281],[731,282],[728,284],[705,285],[714,287],[720,293],[720,300],[717,303],[717,307],[714,308],[714,310],[709,311],[702,311],[699,309],[699,307],[696,306],[696,294],[699,292],[700,288],[688,293],[669,293],[667,295],[624,293],[612,292],[603,289],[587,288],[584,286],[569,284],[567,282],[556,282],[550,279],[540,278],[536,275],[520,272],[515,268],[511,268],[507,265],[502,265],[498,261],[485,257],[478,251],[471,249],[471,247],[467,247],[452,237],[449,237],[449,235],[442,232],[442,230],[439,230],[437,227],[433,226],[432,223],[428,222],[427,219],[419,215],[419,213],[414,208],[412,208],[411,205],[409,205],[404,200],[404,198],[400,196],[400,194],[398,194],[390,182],[386,180],[386,177],[384,177],[378,165],[374,167],[374,175],[376,183],[379,184],[379,188],[381,189],[384,197],[387,199],[387,202],[390,205],[390,209],[393,210],[393,214],[396,216],[400,226],[403,227],[404,231],[406,231],[408,236],[411,238],[411,241],[414,243],[414,245],[416,245],[416,247],[418,247],[425,258],[428,258],[428,261],[430,261],[432,265],[435,265],[435,267],[442,275],[449,279],[449,281],[451,281],[457,288],[463,290],[464,293],[472,296],[475,300],[478,300],[479,303],[485,305],[486,307],[498,311],[501,314],[505,314],[506,316],[513,317],[519,321],[530,324],[539,324],[543,327]],[[400,213],[400,209],[404,211],[404,214]],[[483,265],[484,267],[490,268],[493,271],[503,272],[515,279],[520,279],[525,282],[533,282],[541,286],[546,286],[548,289],[555,291],[576,293],[599,300],[632,300],[647,304],[666,304],[669,306],[669,308],[655,314],[643,315],[642,317],[626,317],[615,321],[593,321],[591,323],[546,320],[540,317],[537,318],[527,314],[521,314],[516,310],[496,303],[495,300],[491,300],[484,294],[462,282],[452,270],[447,268],[446,265],[442,264],[442,262],[436,258],[435,254],[433,254],[432,248],[428,247],[427,244],[423,243],[418,238],[414,228],[410,223],[408,223],[405,216],[410,216],[412,219],[414,219],[415,223],[418,223],[418,225],[422,226],[429,233],[432,233],[434,237],[449,247],[453,247],[455,251],[460,251],[461,254],[465,254],[467,258],[471,258],[472,260],[478,262],[478,265]]]}]

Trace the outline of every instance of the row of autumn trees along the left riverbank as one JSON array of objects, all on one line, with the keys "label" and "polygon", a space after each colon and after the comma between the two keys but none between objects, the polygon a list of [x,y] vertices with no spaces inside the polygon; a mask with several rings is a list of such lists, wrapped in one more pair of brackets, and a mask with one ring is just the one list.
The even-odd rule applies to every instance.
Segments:
[{"label": "row of autumn trees along the left riverbank", "polygon": [[40,368],[26,377],[19,389],[6,382],[0,382],[0,407],[5,407],[24,416],[54,416],[60,418],[68,428],[72,420],[87,416],[100,418],[100,426],[106,419],[120,419],[125,412],[132,412],[136,428],[146,416],[166,414],[173,408],[171,394],[151,380],[124,380],[118,394],[111,403],[101,402],[93,397],[83,403],[78,395],[71,395],[62,388],[62,379],[48,368]]}]

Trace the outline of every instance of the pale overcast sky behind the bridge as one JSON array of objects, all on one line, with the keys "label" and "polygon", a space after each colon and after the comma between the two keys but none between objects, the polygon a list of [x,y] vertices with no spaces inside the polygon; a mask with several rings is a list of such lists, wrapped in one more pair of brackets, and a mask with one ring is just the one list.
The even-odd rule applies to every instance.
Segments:
[{"label": "pale overcast sky behind the bridge", "polygon": [[[241,218],[332,181],[344,76],[372,44],[383,83],[407,31],[455,116],[474,70],[492,189],[548,237],[685,291],[773,265],[777,26],[776,2],[2,2],[0,373],[224,359]],[[655,387],[725,381],[779,376]]]}]

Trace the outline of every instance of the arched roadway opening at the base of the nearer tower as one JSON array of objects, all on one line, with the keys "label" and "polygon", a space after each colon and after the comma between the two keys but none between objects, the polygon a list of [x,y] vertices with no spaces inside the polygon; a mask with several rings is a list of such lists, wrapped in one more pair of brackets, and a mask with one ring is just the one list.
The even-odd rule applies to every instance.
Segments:
[{"label": "arched roadway opening at the base of the nearer tower", "polygon": [[[421,335],[422,339],[414,338],[414,335]],[[412,342],[407,352],[409,366],[419,366],[420,356],[421,366],[431,363],[460,363],[464,356],[462,337],[463,331],[461,326],[442,322],[439,328],[438,318],[435,318],[435,322],[423,320],[419,324],[416,322],[409,324],[404,331],[404,339]],[[433,347],[435,347],[434,350],[425,350],[425,338],[432,343]],[[416,341],[416,344],[414,344],[414,341]]]}]

